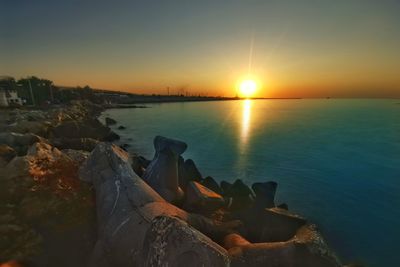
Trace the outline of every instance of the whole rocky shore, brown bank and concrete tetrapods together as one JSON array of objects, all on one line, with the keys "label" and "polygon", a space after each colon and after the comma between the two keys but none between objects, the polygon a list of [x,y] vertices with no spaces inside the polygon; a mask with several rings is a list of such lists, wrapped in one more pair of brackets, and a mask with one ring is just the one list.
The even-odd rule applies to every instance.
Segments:
[{"label": "whole rocky shore, brown bank and concrete tetrapods together", "polygon": [[341,266],[275,182],[217,183],[161,136],[129,155],[103,110],[0,111],[0,266]]}]

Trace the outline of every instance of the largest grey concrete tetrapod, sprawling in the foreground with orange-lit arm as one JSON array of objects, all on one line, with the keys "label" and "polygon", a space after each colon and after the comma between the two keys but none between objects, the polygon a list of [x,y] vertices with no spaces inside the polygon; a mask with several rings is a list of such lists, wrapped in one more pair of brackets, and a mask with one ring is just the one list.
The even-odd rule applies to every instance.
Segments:
[{"label": "largest grey concrete tetrapod, sprawling in the foreground with orange-lit arm", "polygon": [[[155,144],[157,151],[171,149],[162,142]],[[98,241],[90,266],[155,266],[160,261],[174,266],[188,259],[228,264],[226,252],[197,230],[226,235],[235,224],[216,224],[166,202],[134,173],[128,154],[117,146],[99,144],[82,165],[80,177],[96,190]],[[159,216],[168,218],[156,219]]]}]

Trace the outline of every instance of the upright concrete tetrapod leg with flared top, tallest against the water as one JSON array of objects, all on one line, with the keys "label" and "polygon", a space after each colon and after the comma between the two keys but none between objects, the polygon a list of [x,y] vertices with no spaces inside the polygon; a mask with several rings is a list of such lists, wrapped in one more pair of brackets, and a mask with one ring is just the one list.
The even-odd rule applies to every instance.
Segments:
[{"label": "upright concrete tetrapod leg with flared top, tallest against the water", "polygon": [[183,191],[179,187],[178,159],[187,145],[181,141],[156,136],[154,148],[154,158],[146,168],[143,180],[167,201],[179,201],[183,197]]}]

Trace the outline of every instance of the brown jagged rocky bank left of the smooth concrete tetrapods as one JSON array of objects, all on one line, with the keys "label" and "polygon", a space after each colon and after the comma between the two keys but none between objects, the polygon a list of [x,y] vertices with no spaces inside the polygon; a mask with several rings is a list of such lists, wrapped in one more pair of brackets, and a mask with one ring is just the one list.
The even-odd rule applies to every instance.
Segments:
[{"label": "brown jagged rocky bank left of the smooth concrete tetrapods", "polygon": [[80,101],[0,111],[0,264],[86,266],[94,198],[78,169],[99,142],[118,139],[96,119],[102,110]]}]

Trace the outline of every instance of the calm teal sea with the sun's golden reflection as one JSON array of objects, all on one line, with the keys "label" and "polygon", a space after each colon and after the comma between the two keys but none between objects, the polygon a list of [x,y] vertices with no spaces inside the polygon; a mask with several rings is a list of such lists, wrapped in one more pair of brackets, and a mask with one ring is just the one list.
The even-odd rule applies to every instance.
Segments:
[{"label": "calm teal sea with the sun's golden reflection", "polygon": [[155,135],[183,140],[203,176],[277,181],[277,202],[317,223],[342,259],[399,266],[399,103],[242,100],[105,114],[127,127],[116,131],[132,152],[152,158]]}]

